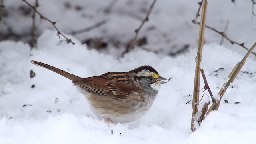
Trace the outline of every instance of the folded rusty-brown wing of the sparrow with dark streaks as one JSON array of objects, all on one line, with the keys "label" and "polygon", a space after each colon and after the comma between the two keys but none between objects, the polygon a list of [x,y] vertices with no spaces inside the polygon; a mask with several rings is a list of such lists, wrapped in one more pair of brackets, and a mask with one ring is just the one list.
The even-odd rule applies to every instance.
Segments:
[{"label": "folded rusty-brown wing of the sparrow with dark streaks", "polygon": [[[122,80],[120,80],[120,76],[122,77]],[[84,78],[81,81],[74,81],[73,83],[90,92],[95,92],[104,96],[125,98],[131,91],[136,90],[135,86],[124,83],[126,80],[127,78],[124,77],[123,72],[110,72],[100,76]]]}]

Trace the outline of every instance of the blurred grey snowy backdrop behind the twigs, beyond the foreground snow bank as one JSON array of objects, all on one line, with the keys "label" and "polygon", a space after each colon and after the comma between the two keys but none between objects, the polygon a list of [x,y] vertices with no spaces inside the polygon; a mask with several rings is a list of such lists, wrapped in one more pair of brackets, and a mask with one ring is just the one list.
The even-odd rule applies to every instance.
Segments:
[{"label": "blurred grey snowy backdrop behind the twigs, beyond the foreground snow bank", "polygon": [[[35,5],[35,0],[27,0]],[[38,0],[36,10],[56,22],[65,35],[72,35],[88,48],[116,57],[130,46],[135,32],[152,0]],[[176,56],[197,47],[199,25],[193,24],[199,8],[198,0],[158,0],[142,26],[135,48],[158,56]],[[0,41],[14,40],[36,48],[36,40],[54,27],[35,16],[34,39],[31,40],[33,10],[22,0],[0,0]],[[256,8],[254,0],[214,0],[208,2],[206,25],[215,28],[238,43],[250,48],[256,40]],[[253,10],[253,8],[255,10]],[[200,12],[199,12],[200,14]],[[200,16],[197,18],[200,21]],[[57,31],[56,31],[57,34]],[[58,36],[56,36],[58,38]],[[33,42],[32,42],[33,41]],[[223,44],[246,54],[212,30],[205,30],[205,43]],[[72,47],[72,45],[70,46]],[[255,50],[254,50],[255,52]]]}]

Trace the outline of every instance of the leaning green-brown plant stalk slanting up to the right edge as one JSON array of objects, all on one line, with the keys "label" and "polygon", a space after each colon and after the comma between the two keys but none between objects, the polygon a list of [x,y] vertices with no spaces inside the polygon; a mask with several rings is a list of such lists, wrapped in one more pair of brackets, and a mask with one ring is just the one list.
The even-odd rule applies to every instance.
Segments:
[{"label": "leaning green-brown plant stalk slanting up to the right edge", "polygon": [[241,62],[238,62],[236,64],[236,66],[234,67],[234,69],[228,76],[229,80],[227,82],[225,82],[223,84],[222,88],[220,89],[220,92],[219,92],[220,99],[217,100],[216,102],[214,102],[214,104],[212,104],[212,106],[208,110],[207,114],[209,114],[209,112],[211,112],[212,110],[218,110],[218,108],[220,106],[220,101],[221,101],[224,93],[226,92],[228,86],[230,86],[230,84],[234,81],[238,72],[240,72],[241,68],[244,66],[244,63],[246,62],[246,58],[249,56],[249,54],[252,52],[252,50],[255,48],[255,46],[256,46],[256,42],[254,43],[252,48],[250,48],[250,50],[247,52],[247,54],[244,56],[244,58],[241,60]]}]

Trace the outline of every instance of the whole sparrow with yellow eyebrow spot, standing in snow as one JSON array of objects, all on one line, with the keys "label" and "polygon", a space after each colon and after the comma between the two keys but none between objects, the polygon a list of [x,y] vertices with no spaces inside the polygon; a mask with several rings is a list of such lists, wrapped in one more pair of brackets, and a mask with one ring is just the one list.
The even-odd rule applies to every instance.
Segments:
[{"label": "whole sparrow with yellow eyebrow spot, standing in snow", "polygon": [[58,68],[32,60],[32,64],[52,70],[72,80],[89,100],[92,109],[108,122],[133,122],[152,106],[165,78],[151,66],[140,66],[129,72],[108,72],[80,78]]}]

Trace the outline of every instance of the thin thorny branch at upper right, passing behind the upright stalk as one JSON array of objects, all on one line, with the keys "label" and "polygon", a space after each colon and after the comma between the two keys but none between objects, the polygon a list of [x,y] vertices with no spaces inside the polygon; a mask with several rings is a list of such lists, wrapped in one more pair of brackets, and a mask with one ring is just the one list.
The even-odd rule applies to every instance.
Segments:
[{"label": "thin thorny branch at upper right, passing behind the upright stalk", "polygon": [[[255,3],[254,0],[252,0],[252,2],[253,2],[253,4]],[[198,4],[199,4],[198,12],[196,13],[196,17],[195,17],[194,20],[192,20],[192,22],[193,22],[194,24],[200,25],[200,22],[199,22],[198,20],[196,20],[196,19],[198,18],[198,16],[200,16],[200,15],[199,15],[199,11],[200,11],[200,9],[201,9],[202,2],[198,2]],[[231,40],[230,38],[228,38],[228,36],[227,36],[224,32],[220,32],[220,31],[216,30],[215,28],[212,28],[212,27],[210,27],[210,26],[208,26],[208,25],[205,25],[205,27],[208,28],[208,29],[210,29],[210,30],[212,30],[212,31],[214,31],[214,32],[216,32],[216,33],[218,33],[218,34],[220,34],[221,36],[223,36],[224,38],[226,38],[226,40],[228,40],[231,44],[236,44],[236,45],[241,46],[242,48],[244,48],[244,49],[246,49],[246,50],[249,51],[249,49],[244,46],[244,42],[238,43],[238,42],[236,42],[236,41]],[[256,53],[255,53],[255,52],[252,52],[252,54],[254,54],[254,55],[256,56]]]}]

